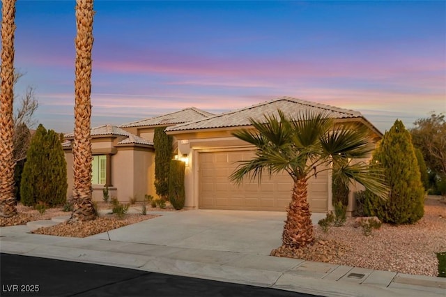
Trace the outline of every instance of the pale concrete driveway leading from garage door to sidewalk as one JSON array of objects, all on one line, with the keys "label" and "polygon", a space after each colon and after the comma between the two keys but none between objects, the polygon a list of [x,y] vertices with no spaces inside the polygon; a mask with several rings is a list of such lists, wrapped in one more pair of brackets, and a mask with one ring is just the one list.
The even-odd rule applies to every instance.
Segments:
[{"label": "pale concrete driveway leading from garage door to sidewalk", "polygon": [[[314,224],[325,214],[315,213]],[[269,255],[282,244],[285,212],[192,210],[161,217],[91,238],[224,252]]]}]

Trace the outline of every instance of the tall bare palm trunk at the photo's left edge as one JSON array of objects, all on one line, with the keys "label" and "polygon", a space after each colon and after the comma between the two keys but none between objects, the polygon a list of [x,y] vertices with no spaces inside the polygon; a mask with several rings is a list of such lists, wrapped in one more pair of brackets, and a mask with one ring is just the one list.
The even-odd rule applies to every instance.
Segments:
[{"label": "tall bare palm trunk at the photo's left edge", "polygon": [[15,0],[3,0],[1,9],[0,95],[0,216],[17,214],[14,197],[13,100]]}]

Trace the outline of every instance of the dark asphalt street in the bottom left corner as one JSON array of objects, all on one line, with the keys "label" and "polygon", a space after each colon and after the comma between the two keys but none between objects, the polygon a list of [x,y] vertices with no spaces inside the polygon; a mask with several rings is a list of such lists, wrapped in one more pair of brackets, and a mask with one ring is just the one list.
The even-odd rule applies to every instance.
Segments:
[{"label": "dark asphalt street in the bottom left corner", "polygon": [[291,291],[128,268],[0,254],[1,296],[293,296]]}]

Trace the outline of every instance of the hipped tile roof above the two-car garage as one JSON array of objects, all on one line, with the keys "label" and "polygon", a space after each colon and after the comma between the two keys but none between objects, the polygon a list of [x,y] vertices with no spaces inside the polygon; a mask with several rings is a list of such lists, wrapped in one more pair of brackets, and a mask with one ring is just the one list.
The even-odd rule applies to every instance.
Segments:
[{"label": "hipped tile roof above the two-car garage", "polygon": [[355,112],[351,109],[343,109],[330,105],[323,105],[321,103],[309,102],[291,97],[282,97],[267,102],[262,102],[251,107],[245,107],[233,112],[225,112],[217,114],[207,119],[201,119],[192,123],[183,123],[168,127],[166,131],[182,131],[182,130],[197,130],[210,128],[228,128],[250,125],[249,118],[256,120],[264,119],[264,114],[277,114],[277,109],[286,112],[290,116],[297,115],[299,112],[307,110],[314,110],[316,112],[328,112],[328,116],[337,119],[358,118],[362,117],[360,112]]}]

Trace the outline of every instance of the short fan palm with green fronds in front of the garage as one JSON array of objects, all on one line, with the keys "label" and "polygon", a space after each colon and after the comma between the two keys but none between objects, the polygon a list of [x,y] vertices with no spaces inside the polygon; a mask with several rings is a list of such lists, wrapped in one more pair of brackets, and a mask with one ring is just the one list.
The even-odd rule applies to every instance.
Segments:
[{"label": "short fan palm with green fronds in front of the garage", "polygon": [[239,139],[253,144],[256,155],[243,161],[230,179],[241,183],[249,176],[261,183],[263,172],[269,175],[285,171],[293,178],[293,193],[287,208],[282,243],[299,248],[314,241],[311,213],[307,201],[308,180],[319,172],[332,170],[344,183],[361,183],[385,198],[387,188],[383,176],[364,162],[374,149],[367,128],[361,125],[338,124],[328,114],[300,112],[293,119],[278,110],[265,121],[249,119],[254,129],[233,132]]}]

